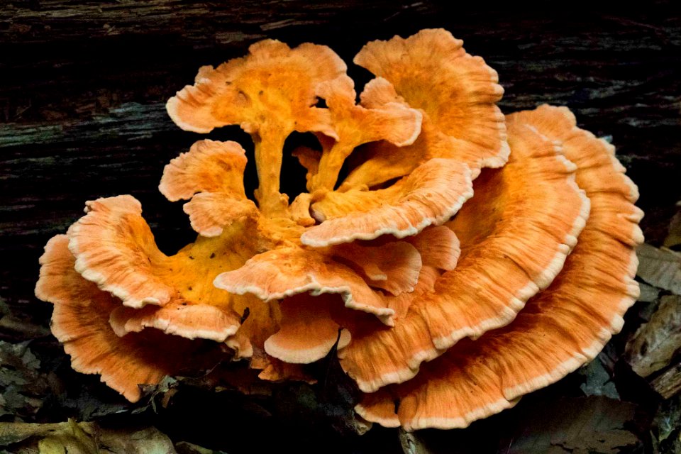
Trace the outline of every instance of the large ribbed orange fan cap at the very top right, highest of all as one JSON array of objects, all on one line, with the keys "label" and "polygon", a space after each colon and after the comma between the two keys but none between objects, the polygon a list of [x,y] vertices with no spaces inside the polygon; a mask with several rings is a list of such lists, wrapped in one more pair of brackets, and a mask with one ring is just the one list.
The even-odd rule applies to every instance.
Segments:
[{"label": "large ribbed orange fan cap at the very top right, highest of all", "polygon": [[422,30],[406,39],[372,41],[354,62],[387,79],[438,131],[472,145],[460,156],[472,169],[500,167],[509,148],[504,116],[494,103],[504,89],[497,72],[462,45],[443,29]]}]

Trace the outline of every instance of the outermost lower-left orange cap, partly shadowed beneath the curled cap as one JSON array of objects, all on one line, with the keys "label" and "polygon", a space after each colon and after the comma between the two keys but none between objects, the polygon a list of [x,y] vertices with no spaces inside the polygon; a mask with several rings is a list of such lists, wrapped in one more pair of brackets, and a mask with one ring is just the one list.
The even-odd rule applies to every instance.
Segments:
[{"label": "outermost lower-left orange cap, partly shadowed beneath the curled cap", "polygon": [[64,343],[74,370],[100,374],[101,381],[136,402],[138,384],[155,384],[185,368],[209,368],[218,362],[218,344],[201,353],[208,341],[189,341],[156,330],[116,336],[109,327],[109,314],[120,307],[120,301],[74,270],[68,244],[67,236],[57,235],[45,245],[35,294],[55,305],[52,333]]}]

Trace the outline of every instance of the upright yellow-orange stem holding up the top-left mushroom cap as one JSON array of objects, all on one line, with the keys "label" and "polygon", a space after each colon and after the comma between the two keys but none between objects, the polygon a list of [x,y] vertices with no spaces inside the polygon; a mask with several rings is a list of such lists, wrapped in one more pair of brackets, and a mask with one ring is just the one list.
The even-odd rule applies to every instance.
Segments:
[{"label": "upright yellow-orange stem holding up the top-left mushroom cap", "polygon": [[263,216],[275,218],[285,216],[288,197],[279,192],[279,177],[282,172],[284,140],[289,133],[284,129],[261,129],[253,134],[255,143],[255,167],[258,170],[258,189],[255,199]]}]

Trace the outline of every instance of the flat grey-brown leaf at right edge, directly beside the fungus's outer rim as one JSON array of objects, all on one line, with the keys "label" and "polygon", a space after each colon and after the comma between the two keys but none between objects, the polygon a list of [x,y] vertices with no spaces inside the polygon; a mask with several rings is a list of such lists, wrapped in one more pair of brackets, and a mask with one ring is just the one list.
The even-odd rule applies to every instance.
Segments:
[{"label": "flat grey-brown leaf at right edge, directly beside the fungus's outer rim", "polygon": [[681,253],[642,244],[636,249],[636,274],[648,284],[681,295]]}]

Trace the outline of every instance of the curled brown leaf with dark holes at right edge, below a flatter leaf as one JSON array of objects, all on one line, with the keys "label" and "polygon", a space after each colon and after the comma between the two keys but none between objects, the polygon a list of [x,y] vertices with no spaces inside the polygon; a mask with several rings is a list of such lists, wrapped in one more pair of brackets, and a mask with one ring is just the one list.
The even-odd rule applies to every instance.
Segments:
[{"label": "curled brown leaf with dark holes at right edge, below a flatter leaf", "polygon": [[681,350],[681,297],[666,295],[650,321],[644,323],[626,344],[626,360],[641,377],[669,365]]}]

